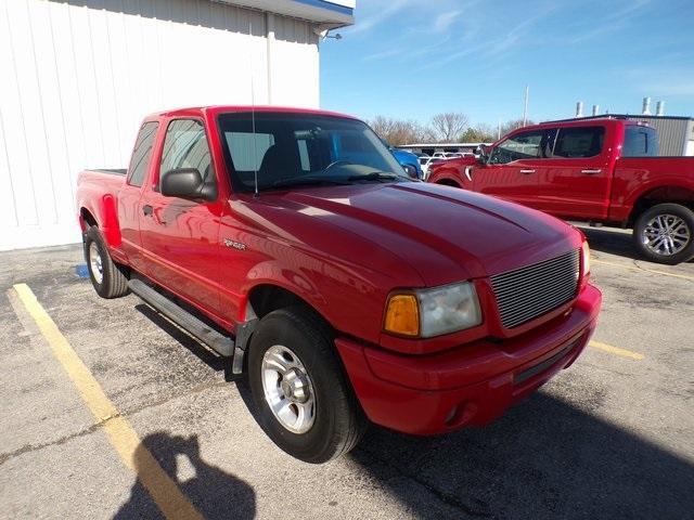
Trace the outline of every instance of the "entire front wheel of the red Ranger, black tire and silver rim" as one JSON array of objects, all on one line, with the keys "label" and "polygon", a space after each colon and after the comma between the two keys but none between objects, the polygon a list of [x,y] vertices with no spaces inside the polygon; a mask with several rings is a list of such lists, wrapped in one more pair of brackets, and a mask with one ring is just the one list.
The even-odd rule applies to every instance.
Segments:
[{"label": "entire front wheel of the red Ranger, black tire and silver rim", "polygon": [[273,311],[260,320],[249,349],[258,422],[278,446],[320,464],[357,445],[367,419],[319,317],[300,307]]}]

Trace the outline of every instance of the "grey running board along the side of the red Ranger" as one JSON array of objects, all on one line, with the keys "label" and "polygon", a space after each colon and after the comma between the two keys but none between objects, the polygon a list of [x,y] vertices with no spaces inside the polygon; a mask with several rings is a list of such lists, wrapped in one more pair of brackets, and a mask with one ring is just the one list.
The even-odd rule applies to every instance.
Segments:
[{"label": "grey running board along the side of the red Ranger", "polygon": [[[190,312],[180,308],[164,295],[157,292],[152,287],[140,280],[131,280],[128,287],[138,295],[147,306],[168,317],[178,326],[187,330],[195,339],[202,341],[219,355],[231,358],[234,355],[234,340],[203,323]],[[242,352],[243,354],[243,352]],[[240,373],[234,370],[234,373]]]}]

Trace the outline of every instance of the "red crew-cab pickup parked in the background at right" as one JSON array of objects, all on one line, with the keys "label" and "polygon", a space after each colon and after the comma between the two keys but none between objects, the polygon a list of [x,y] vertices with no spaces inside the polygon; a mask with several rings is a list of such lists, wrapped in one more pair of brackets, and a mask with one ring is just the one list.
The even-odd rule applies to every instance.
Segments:
[{"label": "red crew-cab pickup parked in the background at right", "polygon": [[515,130],[478,160],[434,167],[428,182],[494,195],[570,220],[633,229],[646,259],[694,257],[694,157],[658,157],[655,129],[625,117]]}]

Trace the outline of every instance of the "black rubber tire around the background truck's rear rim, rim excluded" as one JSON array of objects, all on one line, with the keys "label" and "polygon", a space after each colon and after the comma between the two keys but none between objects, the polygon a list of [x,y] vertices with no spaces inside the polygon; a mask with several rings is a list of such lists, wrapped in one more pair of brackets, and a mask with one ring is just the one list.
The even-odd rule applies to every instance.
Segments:
[{"label": "black rubber tire around the background truck's rear rim, rim excluded", "polygon": [[[645,233],[646,226],[648,222],[658,216],[673,216],[681,219],[682,225],[686,226],[689,240],[684,243],[684,247],[678,252],[668,253],[667,251],[663,251],[658,253],[648,248],[648,239]],[[686,262],[694,257],[694,211],[680,204],[658,204],[657,206],[653,206],[639,216],[633,227],[632,236],[634,246],[639,252],[652,262],[667,263],[670,265]]]}]

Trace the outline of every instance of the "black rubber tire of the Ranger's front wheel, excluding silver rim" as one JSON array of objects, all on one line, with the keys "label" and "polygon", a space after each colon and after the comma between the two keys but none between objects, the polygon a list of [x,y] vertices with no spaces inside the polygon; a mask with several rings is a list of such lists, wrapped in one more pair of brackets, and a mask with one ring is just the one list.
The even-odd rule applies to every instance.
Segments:
[{"label": "black rubber tire of the Ranger's front wheel, excluding silver rim", "polygon": [[[265,398],[262,360],[274,346],[288,347],[310,378],[314,419],[304,433],[285,428]],[[279,447],[306,463],[321,464],[349,452],[365,430],[367,419],[337,356],[330,329],[319,316],[301,307],[273,311],[260,320],[250,339],[248,384],[260,427]]]}]

